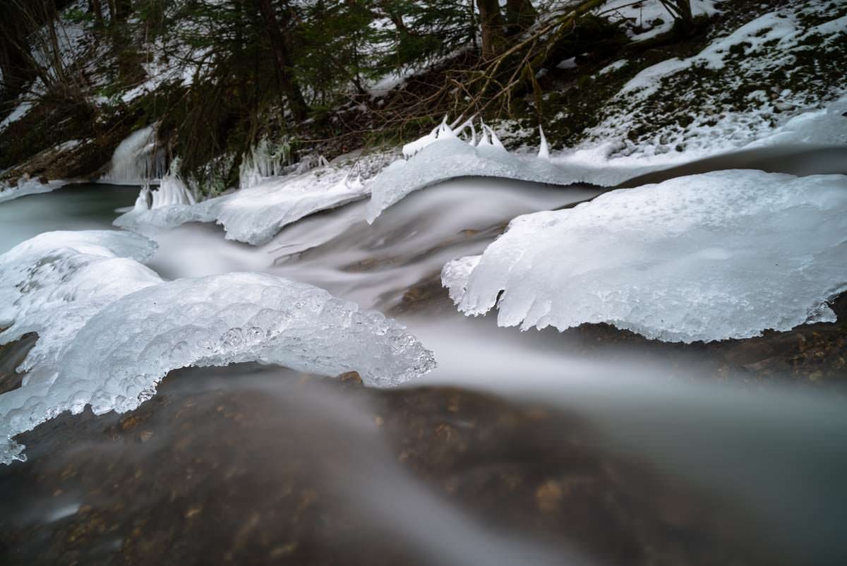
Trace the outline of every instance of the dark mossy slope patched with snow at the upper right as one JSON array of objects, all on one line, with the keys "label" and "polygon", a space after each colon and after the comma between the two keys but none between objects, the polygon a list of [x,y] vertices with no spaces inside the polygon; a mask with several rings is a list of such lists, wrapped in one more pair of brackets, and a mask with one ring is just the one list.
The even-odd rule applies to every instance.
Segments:
[{"label": "dark mossy slope patched with snow at the upper right", "polygon": [[800,0],[717,31],[693,57],[643,69],[604,105],[578,149],[635,164],[745,147],[847,95],[845,58],[847,10]]}]

